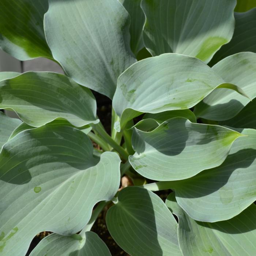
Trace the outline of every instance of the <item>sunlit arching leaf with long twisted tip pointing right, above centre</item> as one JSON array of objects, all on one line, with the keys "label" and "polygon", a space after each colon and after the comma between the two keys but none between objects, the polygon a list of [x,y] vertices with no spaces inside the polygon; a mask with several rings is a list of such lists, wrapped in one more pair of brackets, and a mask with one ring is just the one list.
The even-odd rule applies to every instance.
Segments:
[{"label": "sunlit arching leaf with long twisted tip pointing right, above centre", "polygon": [[143,112],[191,108],[217,87],[239,91],[193,57],[166,53],[141,60],[118,78],[113,107],[121,120],[116,129]]}]

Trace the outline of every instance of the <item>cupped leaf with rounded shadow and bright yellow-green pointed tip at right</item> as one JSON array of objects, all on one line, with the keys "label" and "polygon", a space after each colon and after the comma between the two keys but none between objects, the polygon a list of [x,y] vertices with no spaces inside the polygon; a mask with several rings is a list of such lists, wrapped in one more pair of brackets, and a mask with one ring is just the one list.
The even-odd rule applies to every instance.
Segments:
[{"label": "cupped leaf with rounded shadow and bright yellow-green pointed tip at right", "polygon": [[218,125],[172,118],[151,132],[133,130],[132,167],[151,180],[182,180],[219,166],[240,133]]}]

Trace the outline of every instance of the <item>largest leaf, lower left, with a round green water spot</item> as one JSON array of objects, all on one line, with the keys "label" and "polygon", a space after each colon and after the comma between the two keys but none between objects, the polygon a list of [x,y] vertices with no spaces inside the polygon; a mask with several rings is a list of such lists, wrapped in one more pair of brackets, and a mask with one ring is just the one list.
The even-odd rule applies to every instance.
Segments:
[{"label": "largest leaf, lower left, with a round green water spot", "polygon": [[5,143],[0,154],[1,255],[25,255],[44,230],[65,236],[81,230],[95,203],[117,192],[119,166],[116,153],[93,157],[90,139],[72,127],[45,125]]}]

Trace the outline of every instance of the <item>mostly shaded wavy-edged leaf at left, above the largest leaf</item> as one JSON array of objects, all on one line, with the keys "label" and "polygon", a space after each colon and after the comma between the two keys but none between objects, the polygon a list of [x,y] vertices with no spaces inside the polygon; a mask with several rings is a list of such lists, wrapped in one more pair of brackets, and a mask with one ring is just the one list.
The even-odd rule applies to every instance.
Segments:
[{"label": "mostly shaded wavy-edged leaf at left, above the largest leaf", "polygon": [[91,91],[65,75],[26,72],[0,81],[0,108],[15,110],[31,126],[61,117],[75,126],[98,123]]}]

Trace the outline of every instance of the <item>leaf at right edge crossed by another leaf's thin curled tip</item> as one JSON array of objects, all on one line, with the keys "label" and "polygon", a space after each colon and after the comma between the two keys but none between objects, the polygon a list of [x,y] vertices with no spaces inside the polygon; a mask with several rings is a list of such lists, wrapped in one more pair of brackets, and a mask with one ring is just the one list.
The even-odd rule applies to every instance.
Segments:
[{"label": "leaf at right edge crossed by another leaf's thin curled tip", "polygon": [[[226,83],[236,84],[251,99],[256,97],[256,53],[241,52],[215,64],[212,69]],[[194,110],[197,117],[210,120],[228,120],[238,114],[250,99],[221,88],[213,91],[201,101]]]}]

